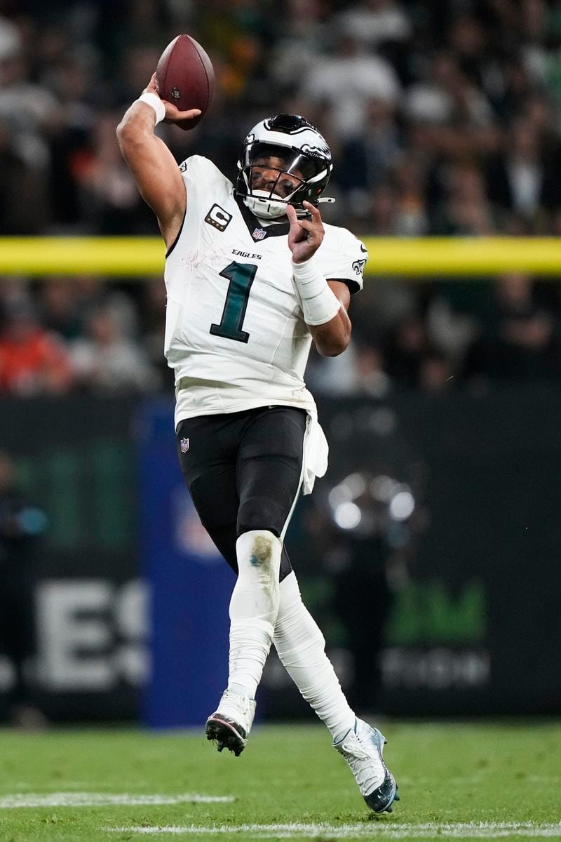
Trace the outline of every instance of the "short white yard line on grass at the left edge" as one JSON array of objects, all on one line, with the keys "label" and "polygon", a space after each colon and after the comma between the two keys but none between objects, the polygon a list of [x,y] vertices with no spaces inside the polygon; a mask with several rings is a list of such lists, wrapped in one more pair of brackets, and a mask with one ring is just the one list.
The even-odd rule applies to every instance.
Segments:
[{"label": "short white yard line on grass at the left edge", "polygon": [[0,796],[0,810],[15,807],[113,807],[124,804],[134,807],[141,804],[231,804],[233,796],[201,795],[199,792],[184,792],[180,795],[142,795],[130,792],[36,792],[14,793]]}]

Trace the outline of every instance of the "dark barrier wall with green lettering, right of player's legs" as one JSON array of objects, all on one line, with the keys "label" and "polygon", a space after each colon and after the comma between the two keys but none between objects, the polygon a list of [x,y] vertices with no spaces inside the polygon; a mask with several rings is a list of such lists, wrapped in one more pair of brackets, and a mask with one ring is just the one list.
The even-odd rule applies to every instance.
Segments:
[{"label": "dark barrier wall with green lettering, right of player's legs", "polygon": [[[559,413],[543,389],[320,403],[330,467],[288,545],[359,709],[561,711]],[[274,659],[267,684],[302,710]]]}]

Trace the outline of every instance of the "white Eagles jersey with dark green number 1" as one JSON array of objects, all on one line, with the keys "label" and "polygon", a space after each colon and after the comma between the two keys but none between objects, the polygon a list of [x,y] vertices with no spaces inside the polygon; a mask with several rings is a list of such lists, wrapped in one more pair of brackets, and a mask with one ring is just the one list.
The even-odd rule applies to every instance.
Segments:
[{"label": "white Eagles jersey with dark green number 1", "polygon": [[[304,385],[310,331],[292,279],[288,222],[264,226],[207,158],[180,167],[187,211],[166,257],[165,353],[183,418],[283,404],[315,413]],[[368,258],[345,228],[325,225],[316,252],[327,279],[363,285]]]}]

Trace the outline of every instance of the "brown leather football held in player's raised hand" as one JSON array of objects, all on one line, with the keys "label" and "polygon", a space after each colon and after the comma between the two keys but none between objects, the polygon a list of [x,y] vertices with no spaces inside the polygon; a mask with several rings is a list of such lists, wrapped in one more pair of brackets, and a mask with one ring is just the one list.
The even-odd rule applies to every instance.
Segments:
[{"label": "brown leather football held in player's raised hand", "polygon": [[214,68],[191,35],[177,35],[167,45],[156,67],[156,84],[161,99],[180,111],[201,109],[193,120],[177,123],[182,129],[193,129],[203,119],[214,97]]}]

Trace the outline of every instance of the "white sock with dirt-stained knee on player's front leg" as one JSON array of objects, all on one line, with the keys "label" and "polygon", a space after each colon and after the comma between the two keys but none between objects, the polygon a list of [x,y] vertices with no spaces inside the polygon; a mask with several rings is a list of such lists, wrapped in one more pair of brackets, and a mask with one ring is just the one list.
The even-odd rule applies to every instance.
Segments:
[{"label": "white sock with dirt-stained knee on player's front leg", "polygon": [[230,600],[228,690],[255,698],[278,614],[283,544],[273,532],[252,530],[236,541],[239,574]]}]

